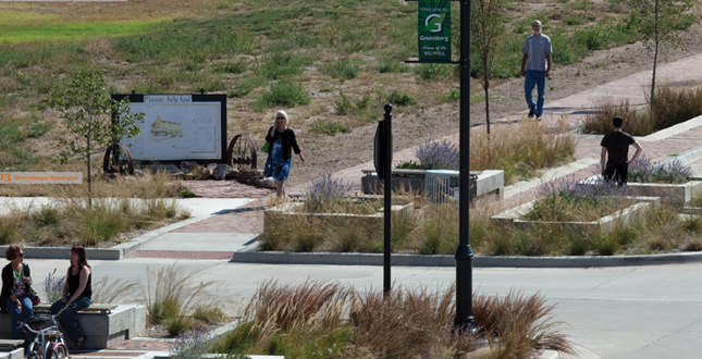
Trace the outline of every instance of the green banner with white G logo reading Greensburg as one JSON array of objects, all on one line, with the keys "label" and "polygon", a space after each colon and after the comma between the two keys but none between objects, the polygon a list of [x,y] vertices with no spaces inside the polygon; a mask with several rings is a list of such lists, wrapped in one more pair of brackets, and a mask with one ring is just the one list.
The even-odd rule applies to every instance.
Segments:
[{"label": "green banner with white G logo reading Greensburg", "polygon": [[419,61],[451,61],[451,0],[419,0]]}]

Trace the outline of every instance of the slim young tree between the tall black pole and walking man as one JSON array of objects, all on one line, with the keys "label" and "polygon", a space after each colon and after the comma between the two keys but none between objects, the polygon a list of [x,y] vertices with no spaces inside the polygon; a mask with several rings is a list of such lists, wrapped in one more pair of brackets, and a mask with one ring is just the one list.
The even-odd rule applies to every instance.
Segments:
[{"label": "slim young tree between the tall black pole and walking man", "polygon": [[490,70],[495,51],[505,34],[500,17],[508,0],[472,0],[470,3],[470,46],[479,54],[482,66],[482,88],[485,91],[485,123],[490,134]]}]

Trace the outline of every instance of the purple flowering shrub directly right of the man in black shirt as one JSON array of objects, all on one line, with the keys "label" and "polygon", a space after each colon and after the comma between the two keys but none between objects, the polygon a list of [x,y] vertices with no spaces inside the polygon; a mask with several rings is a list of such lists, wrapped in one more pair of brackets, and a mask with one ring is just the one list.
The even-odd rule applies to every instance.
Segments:
[{"label": "purple flowering shrub directly right of the man in black shirt", "polygon": [[629,182],[680,184],[688,182],[692,169],[675,160],[668,163],[652,163],[645,156],[629,165]]}]

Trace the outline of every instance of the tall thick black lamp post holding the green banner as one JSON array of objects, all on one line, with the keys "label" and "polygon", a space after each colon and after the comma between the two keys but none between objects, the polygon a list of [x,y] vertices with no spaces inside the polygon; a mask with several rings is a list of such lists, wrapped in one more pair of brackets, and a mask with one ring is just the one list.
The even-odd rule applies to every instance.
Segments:
[{"label": "tall thick black lamp post holding the green banner", "polygon": [[456,317],[460,332],[475,330],[472,317],[472,257],[470,222],[470,0],[460,0],[460,191],[458,194],[458,248],[456,249]]}]

